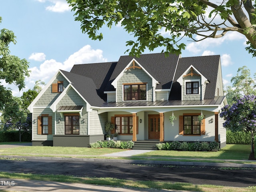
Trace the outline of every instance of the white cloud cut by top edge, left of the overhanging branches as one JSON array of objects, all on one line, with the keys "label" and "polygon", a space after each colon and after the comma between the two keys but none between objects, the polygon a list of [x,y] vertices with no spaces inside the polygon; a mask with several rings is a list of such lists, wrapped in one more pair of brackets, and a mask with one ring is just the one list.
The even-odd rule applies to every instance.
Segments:
[{"label": "white cloud cut by top edge, left of the overhanging branches", "polygon": [[46,10],[52,11],[52,12],[65,12],[71,10],[71,7],[69,7],[69,4],[66,2],[66,0],[37,0],[41,3],[50,2],[50,6],[46,6]]}]

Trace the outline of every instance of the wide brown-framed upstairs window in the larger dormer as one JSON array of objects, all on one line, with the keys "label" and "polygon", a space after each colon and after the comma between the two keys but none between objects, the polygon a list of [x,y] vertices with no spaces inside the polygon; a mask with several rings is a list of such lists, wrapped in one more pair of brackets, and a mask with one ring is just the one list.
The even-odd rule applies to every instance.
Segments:
[{"label": "wide brown-framed upstairs window in the larger dormer", "polygon": [[124,85],[124,101],[146,99],[146,84]]}]

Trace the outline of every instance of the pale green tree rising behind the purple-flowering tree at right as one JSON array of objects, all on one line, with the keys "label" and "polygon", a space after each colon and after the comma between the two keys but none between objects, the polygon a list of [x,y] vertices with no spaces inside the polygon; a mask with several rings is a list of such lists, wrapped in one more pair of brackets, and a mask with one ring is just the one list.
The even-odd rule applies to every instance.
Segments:
[{"label": "pale green tree rising behind the purple-flowering tree at right", "polygon": [[236,76],[231,78],[232,86],[227,86],[227,102],[233,104],[243,95],[256,95],[256,73],[251,77],[250,69],[246,66],[238,68]]}]

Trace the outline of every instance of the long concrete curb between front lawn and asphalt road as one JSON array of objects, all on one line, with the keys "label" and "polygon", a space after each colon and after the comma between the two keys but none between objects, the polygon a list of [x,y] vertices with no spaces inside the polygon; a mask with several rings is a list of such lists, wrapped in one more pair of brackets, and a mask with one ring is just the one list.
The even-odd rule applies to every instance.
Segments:
[{"label": "long concrete curb between front lawn and asphalt road", "polygon": [[185,161],[154,161],[154,160],[122,160],[122,159],[98,159],[98,158],[66,158],[66,157],[32,157],[32,156],[8,156],[2,158],[24,158],[28,160],[54,160],[54,161],[81,161],[81,162],[114,162],[114,163],[144,163],[144,164],[168,164],[187,166],[218,166],[218,167],[244,167],[256,168],[256,164],[239,163],[211,163],[211,162],[185,162]]}]

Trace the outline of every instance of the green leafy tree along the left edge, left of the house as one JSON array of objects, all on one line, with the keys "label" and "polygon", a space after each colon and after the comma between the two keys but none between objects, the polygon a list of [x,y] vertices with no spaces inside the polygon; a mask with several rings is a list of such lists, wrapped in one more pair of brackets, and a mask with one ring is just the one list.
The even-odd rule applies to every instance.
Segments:
[{"label": "green leafy tree along the left edge, left of the house", "polygon": [[[1,21],[0,17],[0,23]],[[30,71],[28,71],[26,59],[21,60],[17,56],[10,55],[9,45],[10,43],[16,44],[15,38],[12,31],[0,30],[0,80],[4,80],[7,84],[15,84],[19,90],[22,90],[25,87],[25,78],[29,76]],[[12,96],[12,91],[0,84],[0,110],[5,111],[5,118],[11,118],[12,114],[19,114],[19,108],[14,106],[17,102],[17,98]],[[6,111],[9,111],[10,114]],[[24,119],[24,114],[20,115]]]}]

